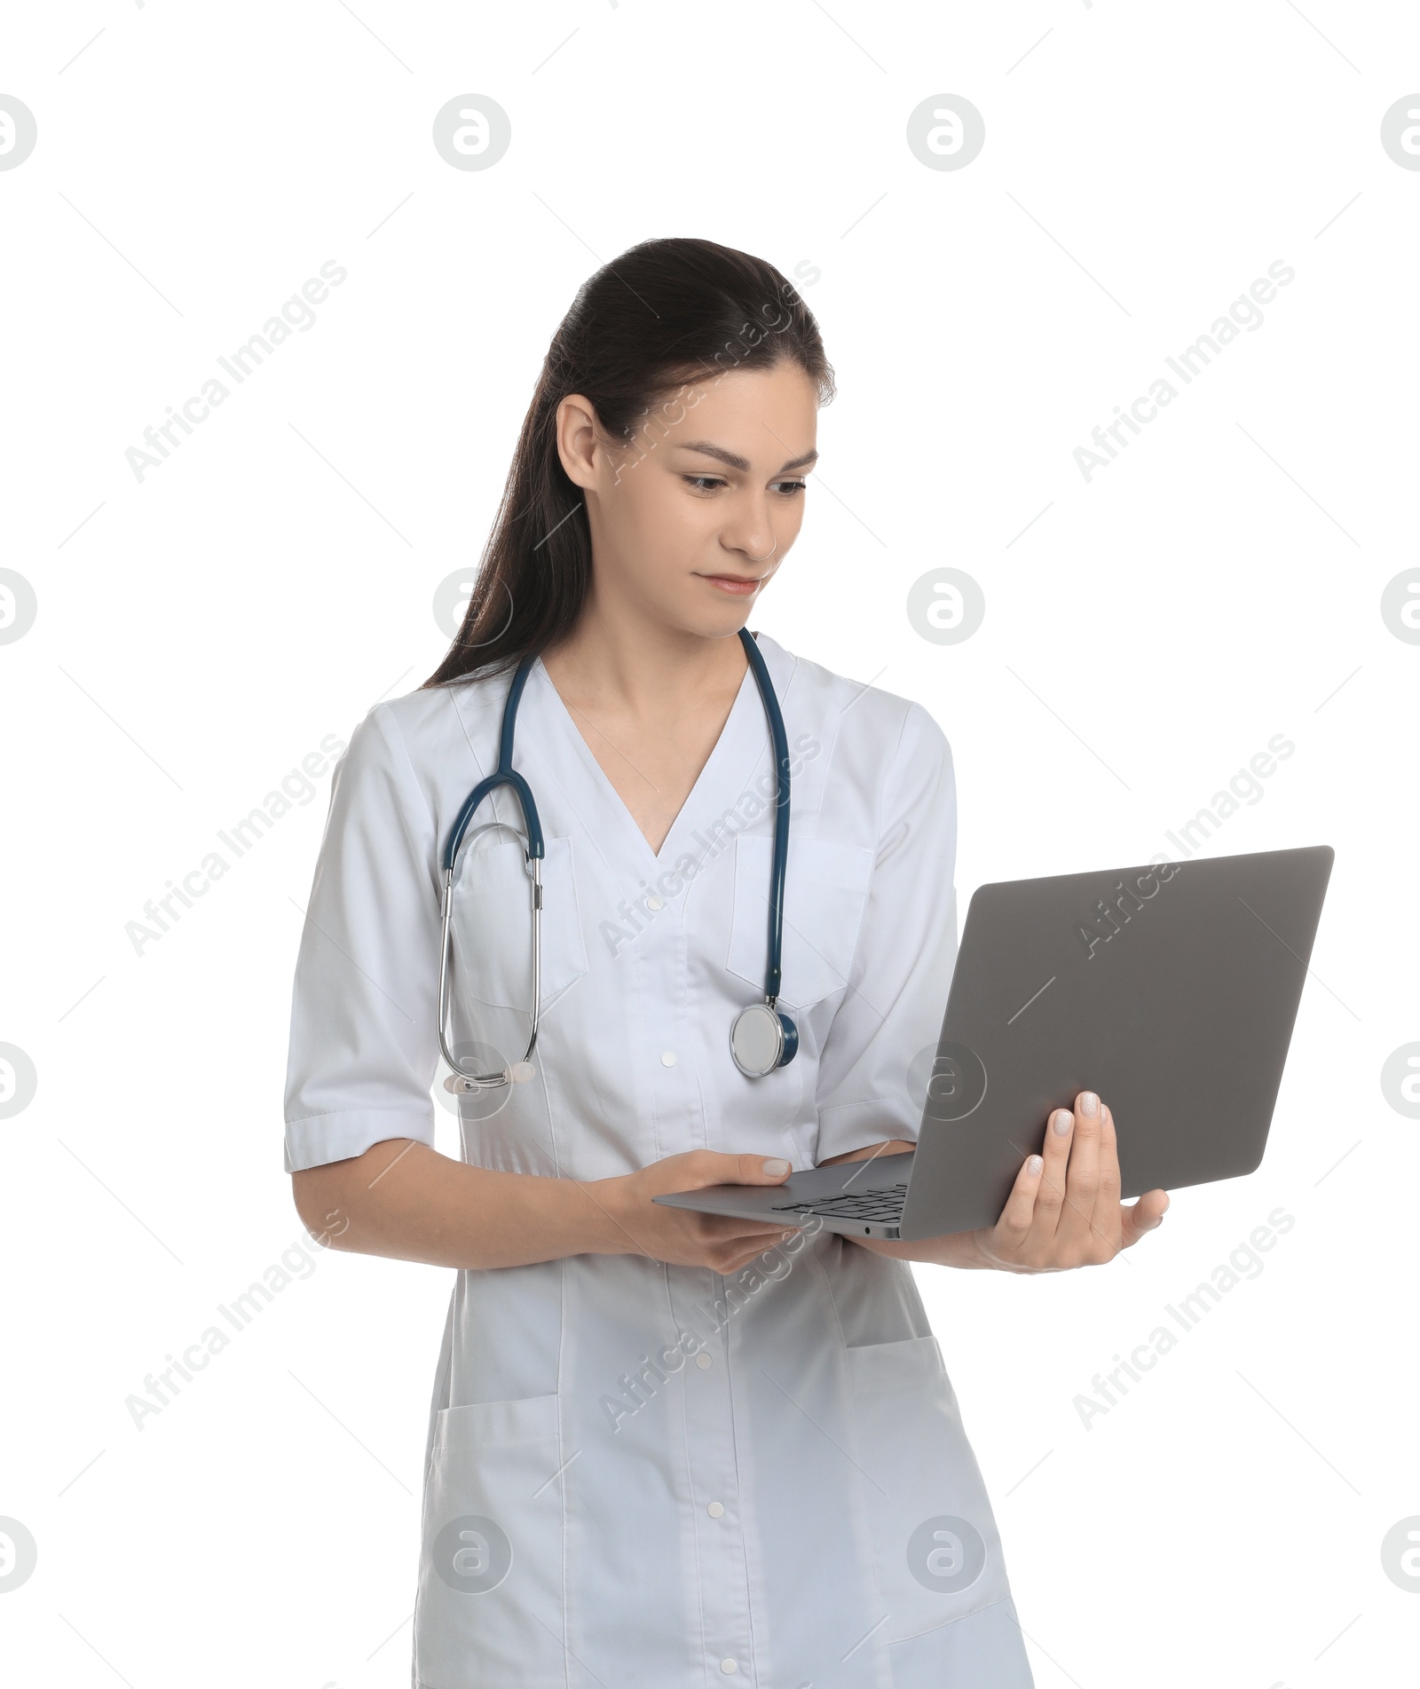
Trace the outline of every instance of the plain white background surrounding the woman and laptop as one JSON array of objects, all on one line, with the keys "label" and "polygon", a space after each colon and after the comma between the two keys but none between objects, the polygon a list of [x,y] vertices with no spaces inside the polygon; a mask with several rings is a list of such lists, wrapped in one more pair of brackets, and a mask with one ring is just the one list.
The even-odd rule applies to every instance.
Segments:
[{"label": "plain white background surrounding the woman and laptop", "polygon": [[[125,1409],[311,1248],[280,1098],[328,775],[142,956],[125,924],[436,667],[434,589],[483,544],[549,336],[652,235],[770,258],[821,321],[839,397],[756,623],[932,709],[962,909],[1170,850],[1276,733],[1295,755],[1207,851],[1337,853],[1256,1174],[1179,1192],[1108,1268],[919,1268],[1040,1689],[1413,1681],[1381,1539],[1420,1513],[1420,1128],[1379,1071],[1420,1039],[1420,645],[1379,595],[1420,564],[1420,172],[1379,123],[1420,88],[1420,15],[952,14],[10,17],[0,93],[39,144],[0,172],[0,564],[39,615],[0,647],[0,1040],[39,1089],[0,1121],[0,1515],[39,1564],[0,1594],[7,1681],[409,1681],[451,1274],[321,1255],[142,1431]],[[468,91],[512,118],[488,171],[431,142]],[[907,145],[937,93],[984,115],[966,169]],[[125,449],[329,258],[314,328],[135,480]],[[1074,448],[1275,260],[1263,326],[1086,481]],[[961,645],[907,620],[939,566],[986,595]],[[1091,1377],[1278,1206],[1261,1275],[1086,1429]]]}]

